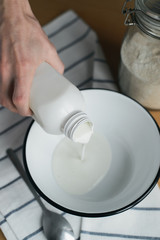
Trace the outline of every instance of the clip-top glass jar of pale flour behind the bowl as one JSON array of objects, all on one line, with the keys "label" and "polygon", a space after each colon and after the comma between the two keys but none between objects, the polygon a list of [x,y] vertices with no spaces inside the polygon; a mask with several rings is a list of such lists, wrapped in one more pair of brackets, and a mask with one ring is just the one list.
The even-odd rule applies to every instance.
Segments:
[{"label": "clip-top glass jar of pale flour behind the bowl", "polygon": [[148,109],[160,109],[160,1],[135,0],[123,13],[128,30],[121,46],[121,92]]}]

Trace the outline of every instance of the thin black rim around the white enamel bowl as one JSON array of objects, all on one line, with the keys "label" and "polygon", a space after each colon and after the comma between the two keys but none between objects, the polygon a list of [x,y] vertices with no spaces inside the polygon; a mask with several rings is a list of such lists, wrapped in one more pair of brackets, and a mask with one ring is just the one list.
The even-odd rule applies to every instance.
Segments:
[{"label": "thin black rim around the white enamel bowl", "polygon": [[[103,90],[103,91],[110,91],[110,92],[114,92],[116,94],[121,94],[119,92],[115,92],[115,91],[112,91],[112,90],[108,90],[108,89],[92,89],[92,88],[87,88],[87,89],[84,89],[82,91],[85,91],[85,90]],[[135,99],[132,99],[131,97],[128,97],[124,94],[121,94],[123,95],[124,97],[126,98],[129,98],[131,100],[133,100],[134,102],[138,103]],[[152,115],[149,113],[149,111],[147,109],[145,109],[140,103],[138,103],[138,105],[140,105],[149,115],[150,117],[152,118],[152,120],[155,122],[156,126],[157,126],[157,129],[158,129],[158,132],[160,134],[160,129],[159,129],[159,126],[157,124],[157,122],[155,121],[155,119],[152,117]],[[31,124],[29,125],[28,129],[27,129],[27,132],[26,132],[26,135],[25,135],[25,138],[24,138],[24,144],[23,144],[23,163],[24,163],[24,167],[25,167],[25,170],[26,170],[26,173],[27,173],[27,176],[31,182],[31,184],[33,185],[33,187],[35,188],[35,190],[39,193],[39,195],[44,198],[48,203],[50,203],[52,206],[56,207],[57,209],[61,210],[61,211],[64,211],[66,213],[69,213],[69,214],[72,214],[72,215],[76,215],[76,216],[80,216],[80,217],[107,217],[107,216],[112,216],[112,215],[115,215],[115,214],[118,214],[118,213],[121,213],[121,212],[124,212],[132,207],[134,207],[135,205],[137,205],[139,202],[141,202],[151,191],[152,189],[155,187],[155,185],[157,184],[159,178],[160,178],[160,167],[159,169],[157,170],[157,175],[156,177],[153,179],[153,182],[152,184],[148,187],[148,189],[139,197],[137,198],[136,200],[134,200],[133,202],[131,202],[130,204],[122,207],[122,208],[119,208],[119,209],[116,209],[116,210],[113,210],[113,211],[109,211],[109,212],[101,212],[101,213],[85,213],[85,212],[79,212],[79,211],[75,211],[75,210],[71,210],[71,209],[68,209],[66,207],[63,207],[61,205],[59,205],[58,203],[52,201],[50,198],[48,198],[40,189],[39,187],[36,185],[36,183],[34,182],[31,174],[30,174],[30,171],[29,171],[29,168],[28,168],[28,165],[27,165],[27,159],[26,159],[26,143],[27,143],[27,138],[28,138],[28,135],[29,135],[29,132],[30,132],[30,129],[32,127],[34,123],[34,120],[31,122]]]}]

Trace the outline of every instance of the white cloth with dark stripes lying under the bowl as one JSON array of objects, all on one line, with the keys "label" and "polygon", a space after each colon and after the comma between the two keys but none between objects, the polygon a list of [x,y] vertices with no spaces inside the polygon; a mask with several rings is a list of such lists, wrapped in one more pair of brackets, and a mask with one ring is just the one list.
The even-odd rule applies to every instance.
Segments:
[{"label": "white cloth with dark stripes lying under the bowl", "polygon": [[[72,83],[80,89],[117,90],[95,32],[73,11],[46,25],[44,31],[55,44],[65,64],[65,77]],[[31,118],[0,106],[0,228],[7,240],[45,240],[41,208],[6,156],[6,149],[13,148],[22,160],[23,139],[30,122]],[[160,239],[158,186],[136,207],[111,217],[80,218],[54,211],[68,219],[76,239]]]}]

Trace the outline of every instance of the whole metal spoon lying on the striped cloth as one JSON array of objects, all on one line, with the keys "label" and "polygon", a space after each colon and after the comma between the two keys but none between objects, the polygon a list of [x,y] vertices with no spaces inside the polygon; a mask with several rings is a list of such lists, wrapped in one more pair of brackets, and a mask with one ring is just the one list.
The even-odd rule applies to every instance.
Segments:
[{"label": "whole metal spoon lying on the striped cloth", "polygon": [[28,180],[27,175],[15,152],[12,149],[8,149],[7,155],[42,208],[42,226],[46,238],[48,240],[75,240],[72,227],[68,221],[60,214],[49,211],[42,203],[39,195]]}]

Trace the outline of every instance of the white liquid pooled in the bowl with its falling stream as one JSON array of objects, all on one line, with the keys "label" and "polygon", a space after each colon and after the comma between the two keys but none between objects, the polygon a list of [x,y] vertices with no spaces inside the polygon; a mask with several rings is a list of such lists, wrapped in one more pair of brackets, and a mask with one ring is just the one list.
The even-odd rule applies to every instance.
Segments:
[{"label": "white liquid pooled in the bowl with its falling stream", "polygon": [[53,154],[54,177],[66,192],[85,194],[106,176],[110,162],[110,145],[101,135],[94,133],[85,145],[64,138]]}]

